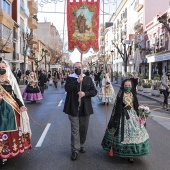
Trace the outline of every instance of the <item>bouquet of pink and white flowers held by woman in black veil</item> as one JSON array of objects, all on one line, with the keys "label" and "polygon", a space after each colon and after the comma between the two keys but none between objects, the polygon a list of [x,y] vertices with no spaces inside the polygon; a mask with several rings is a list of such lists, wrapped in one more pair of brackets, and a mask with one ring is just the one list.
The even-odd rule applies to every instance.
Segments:
[{"label": "bouquet of pink and white flowers held by woman in black veil", "polygon": [[138,107],[139,117],[137,117],[137,122],[144,126],[146,124],[146,118],[150,115],[150,109],[147,106],[139,106]]}]

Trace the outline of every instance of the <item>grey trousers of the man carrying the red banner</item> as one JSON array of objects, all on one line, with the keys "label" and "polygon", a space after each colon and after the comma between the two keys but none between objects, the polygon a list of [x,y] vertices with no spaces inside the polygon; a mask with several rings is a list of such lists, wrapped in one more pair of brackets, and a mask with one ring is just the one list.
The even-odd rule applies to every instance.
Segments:
[{"label": "grey trousers of the man carrying the red banner", "polygon": [[80,147],[86,141],[90,116],[73,117],[69,115],[68,117],[71,123],[71,151],[79,152]]}]

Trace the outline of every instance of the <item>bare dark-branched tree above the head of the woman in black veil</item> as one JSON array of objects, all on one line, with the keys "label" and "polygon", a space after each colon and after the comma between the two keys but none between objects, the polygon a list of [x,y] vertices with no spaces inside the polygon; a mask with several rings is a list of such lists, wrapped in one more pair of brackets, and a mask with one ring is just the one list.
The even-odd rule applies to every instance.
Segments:
[{"label": "bare dark-branched tree above the head of the woman in black veil", "polygon": [[118,53],[120,54],[123,60],[124,72],[127,73],[127,65],[128,65],[129,56],[131,55],[131,51],[132,51],[132,44],[129,44],[128,48],[126,48],[126,43],[123,42],[123,39],[121,43],[123,45],[123,51],[119,48],[118,44],[115,44],[114,41],[112,41],[112,44],[115,46],[115,48],[117,49]]}]

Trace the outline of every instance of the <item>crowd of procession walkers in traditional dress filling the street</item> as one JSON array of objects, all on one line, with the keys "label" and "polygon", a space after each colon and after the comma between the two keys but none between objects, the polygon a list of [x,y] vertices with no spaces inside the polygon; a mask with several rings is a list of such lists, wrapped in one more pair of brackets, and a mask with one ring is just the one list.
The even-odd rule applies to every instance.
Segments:
[{"label": "crowd of procession walkers in traditional dress filling the street", "polygon": [[138,122],[136,73],[133,77],[126,77],[116,96],[109,71],[82,70],[80,62],[76,62],[73,70],[68,72],[27,70],[24,76],[27,86],[21,95],[16,79],[18,75],[15,76],[15,71],[10,72],[5,61],[0,61],[0,166],[4,166],[8,158],[31,149],[31,129],[23,100],[42,100],[44,90],[51,85],[57,89],[64,85],[67,92],[63,112],[68,115],[71,124],[71,160],[77,160],[79,152],[86,152],[88,125],[93,114],[91,98],[94,96],[106,107],[113,103],[112,114],[101,141],[103,149],[111,156],[114,151],[114,155],[127,158],[129,162],[133,162],[135,157],[149,154],[146,126]]}]

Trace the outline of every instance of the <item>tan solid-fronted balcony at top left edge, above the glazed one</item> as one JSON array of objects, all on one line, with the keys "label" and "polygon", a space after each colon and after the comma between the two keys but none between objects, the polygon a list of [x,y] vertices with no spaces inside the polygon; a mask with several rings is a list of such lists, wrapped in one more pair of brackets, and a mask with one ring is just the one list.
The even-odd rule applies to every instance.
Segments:
[{"label": "tan solid-fronted balcony at top left edge, above the glazed one", "polygon": [[13,29],[14,21],[12,17],[0,8],[0,24],[5,25],[9,29]]}]

